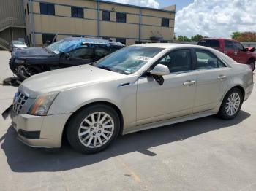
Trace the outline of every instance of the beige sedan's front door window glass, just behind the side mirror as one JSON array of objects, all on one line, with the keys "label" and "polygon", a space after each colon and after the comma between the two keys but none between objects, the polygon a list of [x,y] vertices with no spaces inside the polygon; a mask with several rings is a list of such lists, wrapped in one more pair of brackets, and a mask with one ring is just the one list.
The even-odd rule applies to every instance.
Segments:
[{"label": "beige sedan's front door window glass, just behind the side mirror", "polygon": [[176,50],[170,52],[159,61],[160,64],[167,66],[170,73],[178,71],[189,71],[192,69],[190,50]]}]

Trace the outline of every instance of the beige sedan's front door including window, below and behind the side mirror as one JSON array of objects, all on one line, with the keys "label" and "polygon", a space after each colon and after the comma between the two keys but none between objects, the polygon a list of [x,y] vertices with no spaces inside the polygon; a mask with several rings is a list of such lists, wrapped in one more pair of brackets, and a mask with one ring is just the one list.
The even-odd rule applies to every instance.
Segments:
[{"label": "beige sedan's front door including window, below and behind the side mirror", "polygon": [[196,84],[191,51],[170,52],[154,66],[158,63],[168,66],[170,74],[163,76],[163,85],[159,85],[154,77],[138,79],[137,125],[192,113]]}]

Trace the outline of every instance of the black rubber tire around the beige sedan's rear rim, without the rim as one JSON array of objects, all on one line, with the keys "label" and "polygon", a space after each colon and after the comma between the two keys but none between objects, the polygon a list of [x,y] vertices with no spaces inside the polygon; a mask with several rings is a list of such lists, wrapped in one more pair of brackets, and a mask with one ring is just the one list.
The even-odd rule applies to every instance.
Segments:
[{"label": "black rubber tire around the beige sedan's rear rim, without the rim", "polygon": [[[234,114],[230,115],[227,114],[227,110],[226,110],[226,106],[227,106],[227,101],[228,98],[230,98],[230,95],[237,93],[239,98],[240,98],[240,104],[238,106],[238,109],[236,112],[234,112]],[[219,112],[218,112],[218,117],[224,119],[224,120],[232,120],[234,117],[236,117],[238,115],[238,113],[240,112],[241,106],[243,104],[244,101],[244,96],[241,93],[241,90],[239,90],[238,88],[233,88],[232,90],[230,90],[224,97],[223,101],[222,101],[222,105],[219,108]]]}]

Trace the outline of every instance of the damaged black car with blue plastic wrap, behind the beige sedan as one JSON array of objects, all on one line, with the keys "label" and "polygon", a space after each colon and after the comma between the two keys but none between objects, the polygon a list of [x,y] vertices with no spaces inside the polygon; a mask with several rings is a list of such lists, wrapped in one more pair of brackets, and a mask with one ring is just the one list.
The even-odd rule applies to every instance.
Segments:
[{"label": "damaged black car with blue plastic wrap, behind the beige sedan", "polygon": [[103,39],[69,37],[48,47],[30,47],[12,52],[10,69],[23,81],[44,71],[93,63],[124,44]]}]

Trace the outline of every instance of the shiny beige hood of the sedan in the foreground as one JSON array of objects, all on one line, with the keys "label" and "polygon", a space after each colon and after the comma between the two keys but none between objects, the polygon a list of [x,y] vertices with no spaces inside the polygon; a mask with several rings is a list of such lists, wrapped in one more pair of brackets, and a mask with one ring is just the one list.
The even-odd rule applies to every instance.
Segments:
[{"label": "shiny beige hood of the sedan in the foreground", "polygon": [[125,77],[127,75],[99,69],[91,65],[75,66],[29,77],[20,85],[19,91],[29,95],[30,98],[36,98],[37,95],[42,93],[67,90],[84,85],[95,85]]}]

